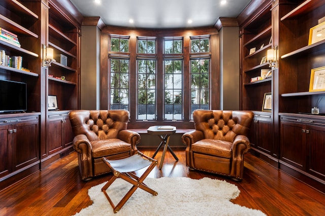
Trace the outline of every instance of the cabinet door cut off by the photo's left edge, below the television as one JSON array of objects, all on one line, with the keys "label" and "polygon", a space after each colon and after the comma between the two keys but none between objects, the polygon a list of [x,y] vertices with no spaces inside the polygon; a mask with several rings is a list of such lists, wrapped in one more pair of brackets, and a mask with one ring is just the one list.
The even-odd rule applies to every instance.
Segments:
[{"label": "cabinet door cut off by the photo's left edge, below the television", "polygon": [[0,177],[8,175],[11,171],[11,162],[9,161],[9,155],[11,154],[10,128],[10,125],[0,126]]}]

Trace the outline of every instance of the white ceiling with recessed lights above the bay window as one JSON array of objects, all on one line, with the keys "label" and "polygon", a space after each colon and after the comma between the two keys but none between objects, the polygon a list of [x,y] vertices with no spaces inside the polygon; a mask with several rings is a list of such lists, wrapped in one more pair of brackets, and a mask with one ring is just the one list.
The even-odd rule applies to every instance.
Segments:
[{"label": "white ceiling with recessed lights above the bay window", "polygon": [[[138,28],[213,26],[219,17],[236,18],[251,0],[70,0],[85,17],[106,25]],[[129,23],[133,19],[134,23]],[[192,23],[187,21],[191,19]]]}]

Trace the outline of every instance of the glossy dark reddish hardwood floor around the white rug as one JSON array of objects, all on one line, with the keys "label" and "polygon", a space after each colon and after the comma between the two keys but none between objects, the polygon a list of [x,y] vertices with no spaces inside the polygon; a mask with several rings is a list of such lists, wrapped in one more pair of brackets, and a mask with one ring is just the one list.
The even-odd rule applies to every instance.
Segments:
[{"label": "glossy dark reddish hardwood floor around the white rug", "polygon": [[[152,156],[154,150],[141,152]],[[148,177],[189,177],[225,180],[238,186],[233,203],[260,209],[267,215],[325,215],[325,195],[288,176],[251,154],[245,155],[244,178],[235,182],[217,175],[191,171],[185,166],[184,150],[175,150],[176,162],[168,152],[161,170],[158,165]],[[156,158],[161,157],[161,151]],[[72,215],[91,205],[87,192],[107,181],[111,174],[81,181],[75,152],[42,171],[0,192],[0,215]],[[111,206],[107,203],[107,208]]]}]

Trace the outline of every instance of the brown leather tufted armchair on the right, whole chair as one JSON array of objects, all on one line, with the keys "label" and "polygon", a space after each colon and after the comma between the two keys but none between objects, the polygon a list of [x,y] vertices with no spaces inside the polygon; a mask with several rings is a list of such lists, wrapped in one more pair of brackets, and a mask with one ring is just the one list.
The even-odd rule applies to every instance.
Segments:
[{"label": "brown leather tufted armchair on the right, whole chair", "polygon": [[195,131],[182,136],[186,166],[242,180],[251,111],[194,110]]}]

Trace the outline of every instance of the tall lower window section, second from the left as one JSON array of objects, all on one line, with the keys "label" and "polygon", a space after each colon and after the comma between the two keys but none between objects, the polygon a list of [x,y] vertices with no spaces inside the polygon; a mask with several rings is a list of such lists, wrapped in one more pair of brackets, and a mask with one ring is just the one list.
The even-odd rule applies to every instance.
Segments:
[{"label": "tall lower window section, second from the left", "polygon": [[156,119],[156,61],[138,60],[138,120]]}]

